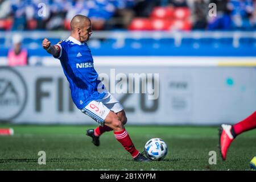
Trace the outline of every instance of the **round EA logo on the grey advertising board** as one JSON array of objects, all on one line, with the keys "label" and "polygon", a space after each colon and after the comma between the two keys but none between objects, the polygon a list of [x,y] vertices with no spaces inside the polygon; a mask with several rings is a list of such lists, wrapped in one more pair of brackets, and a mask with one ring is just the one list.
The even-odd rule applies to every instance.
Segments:
[{"label": "round EA logo on the grey advertising board", "polygon": [[10,121],[22,113],[27,102],[27,86],[19,72],[0,67],[0,121]]}]

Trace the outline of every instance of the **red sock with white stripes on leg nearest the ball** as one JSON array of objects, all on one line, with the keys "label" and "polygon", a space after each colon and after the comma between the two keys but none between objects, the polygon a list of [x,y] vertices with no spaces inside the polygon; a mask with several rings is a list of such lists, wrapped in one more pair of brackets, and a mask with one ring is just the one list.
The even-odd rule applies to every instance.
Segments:
[{"label": "red sock with white stripes on leg nearest the ball", "polygon": [[128,151],[133,158],[136,158],[139,155],[139,151],[134,147],[133,142],[127,131],[123,129],[119,132],[114,132],[115,138],[122,144],[126,151]]}]

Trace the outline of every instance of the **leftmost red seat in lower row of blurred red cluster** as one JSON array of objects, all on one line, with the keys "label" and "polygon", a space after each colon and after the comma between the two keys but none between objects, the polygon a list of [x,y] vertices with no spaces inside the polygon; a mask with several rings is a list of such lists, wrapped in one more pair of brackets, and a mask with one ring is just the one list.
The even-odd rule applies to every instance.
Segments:
[{"label": "leftmost red seat in lower row of blurred red cluster", "polygon": [[152,30],[150,19],[134,18],[131,21],[129,30]]}]

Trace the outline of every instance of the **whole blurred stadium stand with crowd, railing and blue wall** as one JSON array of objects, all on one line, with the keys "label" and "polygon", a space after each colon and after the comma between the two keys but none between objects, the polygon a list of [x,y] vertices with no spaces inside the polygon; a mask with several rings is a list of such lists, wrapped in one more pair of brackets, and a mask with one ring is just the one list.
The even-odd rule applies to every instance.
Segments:
[{"label": "whole blurred stadium stand with crowd, railing and blue wall", "polygon": [[[52,43],[66,39],[75,14],[92,19],[94,34],[88,43],[95,56],[256,56],[253,0],[40,2],[46,6],[43,16],[35,13],[43,8],[37,0],[0,0],[1,57],[7,56],[16,31],[28,57],[49,56],[41,48],[43,38]],[[208,15],[212,2],[216,17]]]}]

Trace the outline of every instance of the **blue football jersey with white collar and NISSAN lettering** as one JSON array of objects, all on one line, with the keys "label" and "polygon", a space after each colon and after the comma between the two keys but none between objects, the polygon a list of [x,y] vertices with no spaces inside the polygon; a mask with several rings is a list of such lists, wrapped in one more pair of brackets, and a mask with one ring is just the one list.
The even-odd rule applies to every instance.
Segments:
[{"label": "blue football jersey with white collar and NISSAN lettering", "polygon": [[105,96],[104,85],[98,80],[98,73],[93,67],[93,57],[86,43],[81,43],[72,36],[58,44],[63,72],[69,82],[72,100],[77,108],[82,109],[90,101],[100,100]]}]

